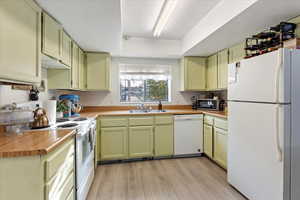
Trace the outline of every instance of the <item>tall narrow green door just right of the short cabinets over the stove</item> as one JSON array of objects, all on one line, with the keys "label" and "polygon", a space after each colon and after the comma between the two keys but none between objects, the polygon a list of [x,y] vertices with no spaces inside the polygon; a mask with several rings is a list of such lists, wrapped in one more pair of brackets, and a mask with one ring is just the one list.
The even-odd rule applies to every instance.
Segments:
[{"label": "tall narrow green door just right of the short cabinets over the stove", "polygon": [[79,47],[73,42],[72,46],[72,88],[79,88]]}]

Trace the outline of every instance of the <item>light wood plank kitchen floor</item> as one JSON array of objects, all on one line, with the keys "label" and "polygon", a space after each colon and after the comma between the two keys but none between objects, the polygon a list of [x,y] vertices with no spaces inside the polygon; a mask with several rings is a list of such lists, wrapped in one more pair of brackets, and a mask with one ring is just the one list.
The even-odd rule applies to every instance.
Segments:
[{"label": "light wood plank kitchen floor", "polygon": [[100,165],[88,200],[246,200],[207,158]]}]

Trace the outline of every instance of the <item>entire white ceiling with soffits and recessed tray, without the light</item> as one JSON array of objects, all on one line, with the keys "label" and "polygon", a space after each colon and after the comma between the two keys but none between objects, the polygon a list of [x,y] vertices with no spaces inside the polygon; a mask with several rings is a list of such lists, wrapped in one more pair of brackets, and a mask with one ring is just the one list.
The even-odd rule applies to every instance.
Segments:
[{"label": "entire white ceiling with soffits and recessed tray, without the light", "polygon": [[210,55],[300,15],[300,0],[178,0],[157,39],[152,30],[163,0],[36,1],[85,51],[126,57]]}]

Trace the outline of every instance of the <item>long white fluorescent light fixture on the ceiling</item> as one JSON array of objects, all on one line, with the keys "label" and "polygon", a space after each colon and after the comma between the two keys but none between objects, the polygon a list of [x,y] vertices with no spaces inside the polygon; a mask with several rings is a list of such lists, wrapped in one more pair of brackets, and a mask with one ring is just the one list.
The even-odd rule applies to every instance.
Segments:
[{"label": "long white fluorescent light fixture on the ceiling", "polygon": [[172,12],[174,11],[177,4],[177,0],[165,0],[161,12],[157,18],[154,26],[153,36],[159,37],[162,30],[165,28]]}]

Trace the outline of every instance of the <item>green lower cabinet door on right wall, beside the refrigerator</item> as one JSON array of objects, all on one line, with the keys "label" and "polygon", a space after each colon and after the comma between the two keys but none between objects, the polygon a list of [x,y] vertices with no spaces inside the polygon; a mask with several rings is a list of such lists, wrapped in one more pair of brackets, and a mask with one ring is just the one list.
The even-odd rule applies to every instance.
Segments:
[{"label": "green lower cabinet door on right wall, beside the refrigerator", "polygon": [[227,168],[227,131],[214,128],[214,160]]}]

